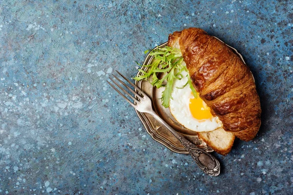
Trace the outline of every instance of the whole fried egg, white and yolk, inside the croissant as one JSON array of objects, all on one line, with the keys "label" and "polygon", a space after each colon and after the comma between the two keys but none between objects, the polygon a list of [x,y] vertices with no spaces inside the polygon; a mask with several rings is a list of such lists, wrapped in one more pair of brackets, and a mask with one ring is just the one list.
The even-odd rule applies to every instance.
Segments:
[{"label": "whole fried egg, white and yolk, inside the croissant", "polygon": [[195,98],[188,84],[182,88],[188,81],[187,74],[184,71],[181,80],[174,80],[169,102],[172,116],[181,125],[195,132],[208,132],[221,127],[219,118],[211,115],[209,107],[199,95]]}]

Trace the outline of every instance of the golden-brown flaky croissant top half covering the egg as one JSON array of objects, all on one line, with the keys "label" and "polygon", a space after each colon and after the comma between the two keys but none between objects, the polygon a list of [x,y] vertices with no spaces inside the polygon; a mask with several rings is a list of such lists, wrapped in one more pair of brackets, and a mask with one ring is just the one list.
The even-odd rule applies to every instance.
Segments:
[{"label": "golden-brown flaky croissant top half covering the egg", "polygon": [[260,101],[248,66],[230,47],[199,28],[169,35],[180,48],[192,83],[223,128],[249,141],[259,130]]}]

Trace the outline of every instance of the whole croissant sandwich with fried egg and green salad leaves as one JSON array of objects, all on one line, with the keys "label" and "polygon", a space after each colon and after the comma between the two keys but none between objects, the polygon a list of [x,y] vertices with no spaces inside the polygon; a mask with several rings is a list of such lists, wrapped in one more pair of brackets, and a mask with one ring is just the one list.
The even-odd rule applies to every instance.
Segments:
[{"label": "whole croissant sandwich with fried egg and green salad leaves", "polygon": [[199,28],[174,32],[167,44],[150,51],[152,62],[134,79],[164,87],[162,106],[221,155],[230,152],[235,137],[255,137],[260,102],[251,71],[239,55]]}]

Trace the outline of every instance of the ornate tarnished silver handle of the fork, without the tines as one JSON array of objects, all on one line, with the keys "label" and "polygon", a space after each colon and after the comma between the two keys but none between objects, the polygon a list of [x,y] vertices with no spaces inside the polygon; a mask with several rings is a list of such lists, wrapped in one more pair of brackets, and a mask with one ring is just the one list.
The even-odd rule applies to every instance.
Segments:
[{"label": "ornate tarnished silver handle of the fork, without the tines", "polygon": [[172,127],[170,127],[161,117],[159,117],[154,111],[149,112],[160,123],[162,123],[188,150],[191,157],[201,170],[203,170],[209,176],[218,176],[220,174],[220,163],[214,156],[211,156],[205,150],[198,148],[193,143],[188,141],[185,137],[178,134]]}]

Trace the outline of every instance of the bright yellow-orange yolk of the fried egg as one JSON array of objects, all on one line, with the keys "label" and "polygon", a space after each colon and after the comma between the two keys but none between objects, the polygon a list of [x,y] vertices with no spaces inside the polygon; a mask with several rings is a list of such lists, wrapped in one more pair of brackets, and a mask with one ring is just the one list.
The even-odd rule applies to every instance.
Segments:
[{"label": "bright yellow-orange yolk of the fried egg", "polygon": [[210,113],[209,107],[201,98],[199,98],[198,94],[197,98],[190,98],[189,110],[191,115],[198,120],[209,119],[213,117]]}]

